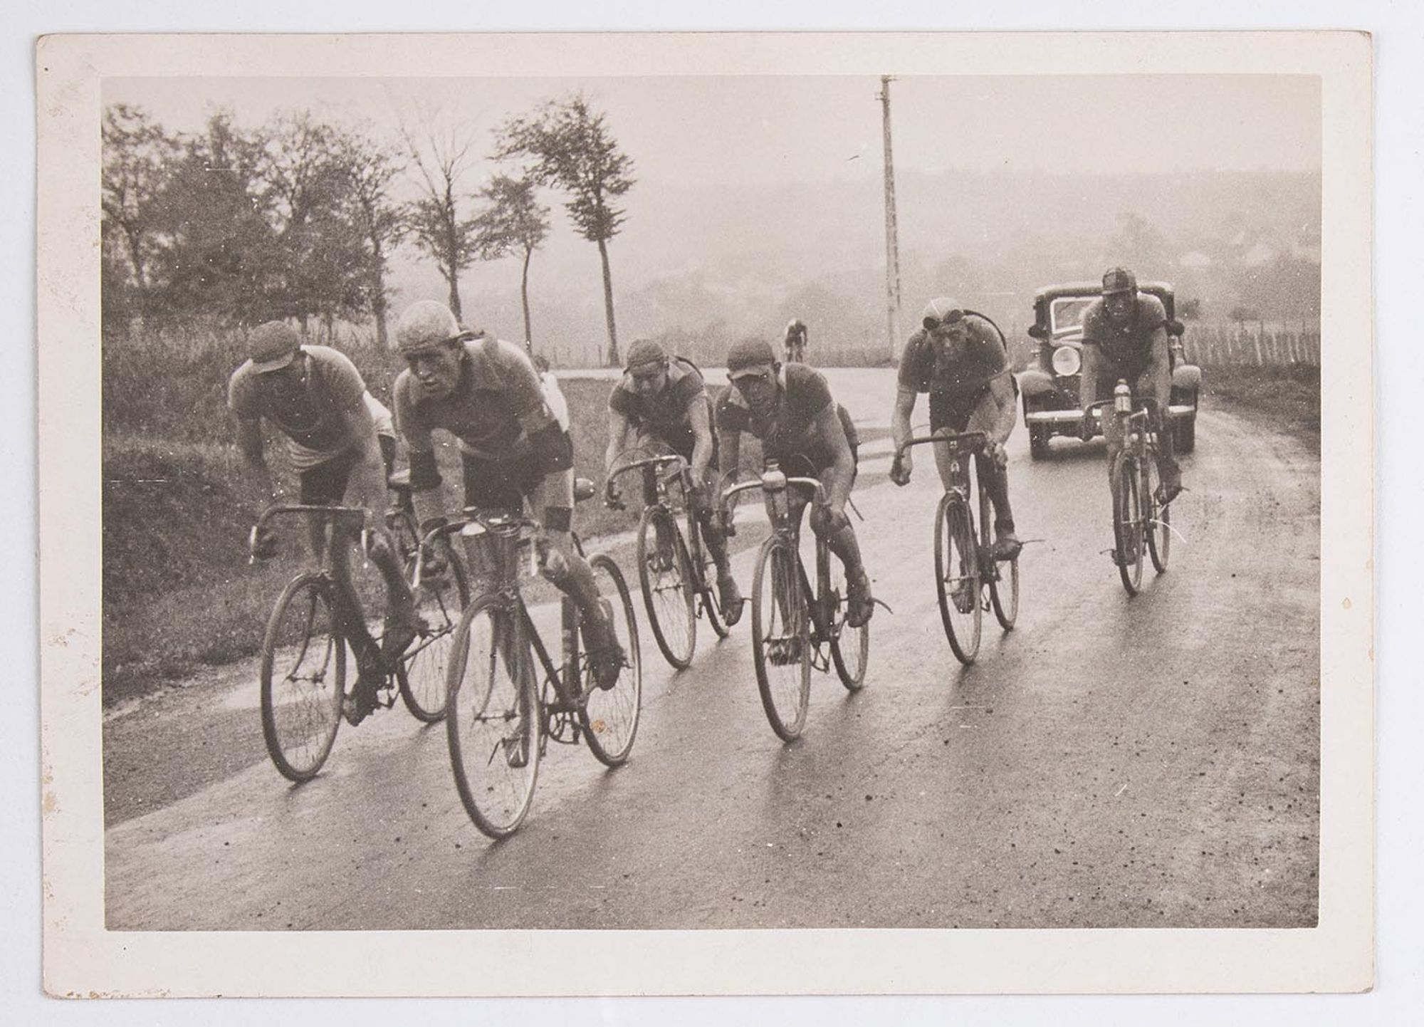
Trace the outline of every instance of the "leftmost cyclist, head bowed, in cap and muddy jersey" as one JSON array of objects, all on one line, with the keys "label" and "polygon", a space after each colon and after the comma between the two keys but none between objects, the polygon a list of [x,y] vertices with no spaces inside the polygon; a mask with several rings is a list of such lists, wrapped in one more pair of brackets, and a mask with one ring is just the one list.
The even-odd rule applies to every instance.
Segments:
[{"label": "leftmost cyclist, head bowed, in cap and muddy jersey", "polygon": [[[262,443],[266,417],[286,436],[292,467],[300,479],[303,504],[347,504],[366,509],[370,557],[386,583],[387,614],[382,645],[366,630],[360,600],[350,581],[349,537],[333,531],[332,571],[336,580],[336,617],[356,652],[357,681],[346,716],[359,724],[376,702],[386,662],[399,657],[424,624],[384,524],[373,510],[384,509],[382,476],[383,443],[372,417],[372,403],[356,366],[328,346],[303,346],[296,332],[281,320],[259,325],[251,336],[251,359],[228,382],[228,406],[238,422],[238,449],[246,470],[248,491],[262,501],[276,499]],[[380,406],[384,410],[383,406]],[[393,442],[393,440],[392,440]],[[320,558],[325,531],[312,524],[312,551]],[[276,554],[276,534],[265,528],[253,556]]]}]

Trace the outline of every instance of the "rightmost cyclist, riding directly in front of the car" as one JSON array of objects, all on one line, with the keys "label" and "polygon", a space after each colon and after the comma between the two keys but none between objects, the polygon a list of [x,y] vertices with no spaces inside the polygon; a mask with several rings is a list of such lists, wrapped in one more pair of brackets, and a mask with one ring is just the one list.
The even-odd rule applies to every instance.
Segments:
[{"label": "rightmost cyclist, riding directly in front of the car", "polygon": [[[1166,339],[1166,309],[1156,296],[1138,292],[1138,279],[1126,268],[1109,268],[1102,276],[1102,296],[1092,301],[1082,315],[1082,389],[1087,410],[1099,399],[1109,399],[1118,380],[1132,387],[1134,396],[1156,400],[1149,424],[1158,436],[1158,466],[1162,483],[1158,503],[1171,503],[1182,491],[1182,470],[1173,454],[1171,426],[1166,423],[1172,397],[1172,362]],[[1082,439],[1092,437],[1092,419],[1084,415]],[[1102,433],[1108,440],[1108,470],[1122,450],[1116,417],[1104,416]]]}]

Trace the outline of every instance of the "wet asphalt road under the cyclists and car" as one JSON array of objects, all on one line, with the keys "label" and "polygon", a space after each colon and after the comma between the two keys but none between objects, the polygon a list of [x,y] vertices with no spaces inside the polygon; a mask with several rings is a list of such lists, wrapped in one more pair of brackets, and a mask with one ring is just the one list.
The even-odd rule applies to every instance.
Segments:
[{"label": "wet asphalt road under the cyclists and car", "polygon": [[985,615],[963,669],[934,598],[933,462],[907,489],[884,479],[890,375],[830,372],[867,429],[857,533],[894,612],[871,622],[863,692],[813,675],[797,742],[762,714],[746,621],[699,632],[682,674],[644,625],[627,766],[551,745],[528,820],[494,845],[441,726],[399,705],[343,726],[290,786],[262,749],[255,665],[225,668],[107,718],[108,926],[1312,926],[1314,454],[1203,412],[1172,568],[1128,598],[1102,554],[1101,443],[1030,462],[1020,424],[1015,514],[1042,541],[1021,557],[1017,630]]}]

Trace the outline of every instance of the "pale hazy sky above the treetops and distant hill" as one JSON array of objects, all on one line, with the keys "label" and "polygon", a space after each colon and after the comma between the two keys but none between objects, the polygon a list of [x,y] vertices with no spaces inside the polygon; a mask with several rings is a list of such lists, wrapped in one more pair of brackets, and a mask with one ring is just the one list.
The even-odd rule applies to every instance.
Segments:
[{"label": "pale hazy sky above the treetops and distant hill", "polygon": [[[105,80],[169,130],[216,107],[241,124],[312,108],[393,131],[419,110],[490,130],[582,90],[608,115],[644,182],[880,177],[871,77],[699,78],[141,78]],[[897,170],[1183,171],[1320,168],[1319,80],[1304,75],[909,77],[891,84]],[[478,174],[478,172],[476,172]]]}]

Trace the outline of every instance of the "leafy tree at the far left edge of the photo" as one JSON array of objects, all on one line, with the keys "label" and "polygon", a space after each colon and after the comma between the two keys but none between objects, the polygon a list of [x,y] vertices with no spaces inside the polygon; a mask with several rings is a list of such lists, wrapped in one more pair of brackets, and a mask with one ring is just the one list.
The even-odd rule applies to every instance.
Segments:
[{"label": "leafy tree at the far left edge of the photo", "polygon": [[138,107],[114,104],[104,110],[101,128],[104,164],[100,197],[105,228],[122,239],[138,313],[148,312],[152,286],[155,232],[161,221],[161,194],[169,162],[181,152],[178,141],[150,121]]}]

